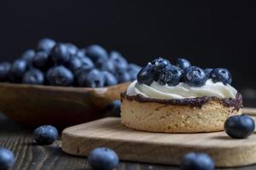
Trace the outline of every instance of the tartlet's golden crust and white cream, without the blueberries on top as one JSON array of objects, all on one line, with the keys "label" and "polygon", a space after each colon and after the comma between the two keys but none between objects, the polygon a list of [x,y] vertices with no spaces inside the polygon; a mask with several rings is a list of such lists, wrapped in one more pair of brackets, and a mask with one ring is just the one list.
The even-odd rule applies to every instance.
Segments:
[{"label": "tartlet's golden crust and white cream, without the blueberries on top", "polygon": [[[186,74],[186,71],[183,74]],[[203,86],[191,85],[192,88],[186,82],[179,82],[170,87],[159,82],[147,82],[148,84],[132,82],[127,91],[121,94],[121,122],[125,127],[159,133],[224,130],[224,122],[229,116],[241,114],[242,96],[230,85],[214,82],[210,77],[207,76]],[[168,90],[172,92],[168,94]],[[205,90],[206,95],[200,90]],[[158,94],[160,97],[157,96]],[[178,99],[177,94],[192,96]]]}]

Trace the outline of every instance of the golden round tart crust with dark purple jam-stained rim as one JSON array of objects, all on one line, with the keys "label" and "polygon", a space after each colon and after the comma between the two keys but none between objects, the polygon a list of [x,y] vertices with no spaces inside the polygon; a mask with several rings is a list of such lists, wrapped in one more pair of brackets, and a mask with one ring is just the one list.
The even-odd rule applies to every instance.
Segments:
[{"label": "golden round tart crust with dark purple jam-stained rim", "polygon": [[126,127],[159,133],[206,133],[224,130],[229,116],[241,115],[242,97],[218,99],[148,99],[121,94],[121,122]]}]

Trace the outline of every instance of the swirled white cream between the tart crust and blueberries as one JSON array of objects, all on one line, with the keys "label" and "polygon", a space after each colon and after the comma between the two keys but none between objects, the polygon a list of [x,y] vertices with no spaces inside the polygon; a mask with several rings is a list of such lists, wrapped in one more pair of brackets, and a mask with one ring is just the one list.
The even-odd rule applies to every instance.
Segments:
[{"label": "swirled white cream between the tart crust and blueberries", "polygon": [[153,82],[148,86],[134,81],[127,88],[126,94],[130,96],[141,94],[154,99],[185,99],[203,96],[235,99],[237,91],[230,84],[212,82],[212,79],[207,80],[206,84],[201,87],[191,87],[184,82],[179,82],[176,86],[160,85],[159,82]]}]

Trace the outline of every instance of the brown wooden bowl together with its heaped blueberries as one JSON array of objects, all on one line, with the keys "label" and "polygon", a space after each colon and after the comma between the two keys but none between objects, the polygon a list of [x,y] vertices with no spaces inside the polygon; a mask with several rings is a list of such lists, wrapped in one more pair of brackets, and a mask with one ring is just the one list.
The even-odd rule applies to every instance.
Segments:
[{"label": "brown wooden bowl together with its heaped blueberries", "polygon": [[138,71],[100,45],[42,38],[12,63],[0,63],[0,109],[29,127],[89,122],[105,115]]}]

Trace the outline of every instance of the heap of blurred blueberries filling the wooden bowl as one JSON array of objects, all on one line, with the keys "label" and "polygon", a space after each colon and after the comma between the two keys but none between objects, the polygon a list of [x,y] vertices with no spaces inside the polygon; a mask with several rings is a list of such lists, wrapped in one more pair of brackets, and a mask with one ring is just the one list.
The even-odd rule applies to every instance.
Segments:
[{"label": "heap of blurred blueberries filling the wooden bowl", "polygon": [[140,70],[117,51],[44,38],[13,64],[0,63],[0,82],[102,88],[135,80]]}]

